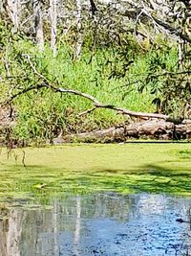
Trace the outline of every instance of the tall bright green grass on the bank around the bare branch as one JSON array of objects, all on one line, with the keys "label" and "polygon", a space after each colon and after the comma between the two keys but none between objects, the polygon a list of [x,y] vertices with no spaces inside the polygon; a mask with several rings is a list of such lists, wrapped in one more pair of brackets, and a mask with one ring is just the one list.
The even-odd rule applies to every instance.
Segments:
[{"label": "tall bright green grass on the bank around the bare branch", "polygon": [[[1,101],[13,85],[13,92],[17,92],[20,88],[40,82],[32,73],[23,54],[29,54],[38,72],[56,86],[89,93],[104,104],[119,105],[137,111],[156,110],[155,105],[152,105],[154,95],[149,93],[154,84],[144,87],[141,93],[138,90],[141,80],[148,73],[149,60],[155,55],[152,51],[138,54],[128,72],[117,79],[111,74],[116,69],[122,70],[122,62],[114,49],[97,49],[94,55],[88,49],[83,49],[81,58],[73,60],[72,47],[62,43],[53,58],[49,46],[45,52],[39,53],[31,41],[19,38],[5,47],[1,55],[9,63],[13,78],[7,78],[5,61],[1,62]],[[173,58],[177,58],[173,51],[168,53],[168,58],[165,56],[168,65],[172,65]],[[91,114],[78,117],[77,113],[91,108],[90,101],[74,95],[53,93],[48,89],[20,96],[14,101],[14,107],[17,111],[14,134],[26,140],[50,140],[59,132],[107,128],[125,120],[115,111],[106,109],[97,109]]]}]

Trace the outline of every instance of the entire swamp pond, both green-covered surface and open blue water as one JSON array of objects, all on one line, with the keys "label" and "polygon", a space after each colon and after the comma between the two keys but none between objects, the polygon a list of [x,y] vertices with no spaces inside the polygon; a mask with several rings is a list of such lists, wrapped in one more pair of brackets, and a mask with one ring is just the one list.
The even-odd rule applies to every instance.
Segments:
[{"label": "entire swamp pond, both green-covered surface and open blue water", "polygon": [[190,144],[2,150],[0,256],[191,255],[190,160]]}]

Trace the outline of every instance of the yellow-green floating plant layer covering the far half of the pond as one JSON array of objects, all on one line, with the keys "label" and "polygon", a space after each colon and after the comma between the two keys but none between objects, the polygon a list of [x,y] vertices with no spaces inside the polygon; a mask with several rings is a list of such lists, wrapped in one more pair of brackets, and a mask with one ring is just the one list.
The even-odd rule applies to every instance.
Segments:
[{"label": "yellow-green floating plant layer covering the far half of the pond", "polygon": [[[63,192],[191,196],[189,143],[66,145],[0,155],[0,198],[47,200]],[[183,157],[182,157],[183,152]],[[190,156],[190,154],[189,154]]]}]

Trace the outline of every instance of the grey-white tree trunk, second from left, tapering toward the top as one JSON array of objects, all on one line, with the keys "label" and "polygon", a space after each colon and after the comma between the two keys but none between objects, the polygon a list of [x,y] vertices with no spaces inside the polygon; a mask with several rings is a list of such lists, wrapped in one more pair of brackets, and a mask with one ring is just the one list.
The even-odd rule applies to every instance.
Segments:
[{"label": "grey-white tree trunk, second from left, tapering toward the top", "polygon": [[38,46],[39,51],[43,51],[44,50],[43,21],[42,21],[42,12],[40,8],[39,0],[33,0],[33,13],[34,13],[36,45]]}]

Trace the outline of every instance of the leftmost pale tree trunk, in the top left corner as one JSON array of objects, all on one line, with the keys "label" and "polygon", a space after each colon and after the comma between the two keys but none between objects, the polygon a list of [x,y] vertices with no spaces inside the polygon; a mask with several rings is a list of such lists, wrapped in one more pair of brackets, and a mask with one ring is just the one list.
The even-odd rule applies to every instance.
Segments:
[{"label": "leftmost pale tree trunk, in the top left corner", "polygon": [[14,32],[17,32],[19,29],[19,23],[20,23],[20,10],[21,10],[20,0],[7,0],[6,9],[11,18],[11,22],[14,26]]}]

